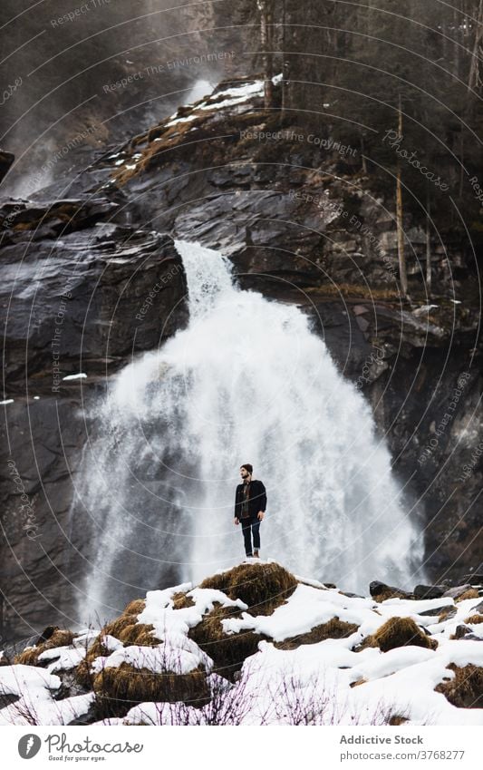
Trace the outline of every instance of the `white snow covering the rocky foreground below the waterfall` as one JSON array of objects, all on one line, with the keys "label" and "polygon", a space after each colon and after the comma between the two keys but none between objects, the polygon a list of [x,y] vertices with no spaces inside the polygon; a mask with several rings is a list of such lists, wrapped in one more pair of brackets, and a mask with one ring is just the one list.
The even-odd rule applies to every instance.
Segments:
[{"label": "white snow covering the rocky foreground below the waterfall", "polygon": [[[259,562],[260,566],[266,563]],[[474,638],[450,638],[465,620],[481,614],[475,609],[481,598],[456,603],[450,597],[378,603],[371,597],[346,596],[316,581],[297,580],[285,603],[272,614],[258,616],[246,612],[242,600],[229,599],[220,590],[184,583],[149,591],[137,620],[152,624],[152,633],[161,643],[153,647],[123,645],[115,637],[106,637],[107,654],[93,661],[92,672],[121,663],[155,674],[187,674],[203,667],[215,693],[213,700],[226,701],[233,720],[245,725],[295,724],[297,719],[305,723],[311,721],[311,714],[316,724],[382,725],[388,716],[400,716],[407,720],[405,725],[483,725],[483,708],[452,706],[445,695],[435,691],[441,682],[455,676],[447,668],[449,664],[483,667],[483,623],[466,624]],[[174,609],[173,596],[179,593],[186,594],[192,606]],[[216,602],[241,613],[239,619],[222,620],[226,634],[256,631],[267,638],[258,643],[255,655],[246,658],[235,685],[212,673],[212,659],[188,638],[189,629],[198,626]],[[441,622],[440,613],[421,614],[436,609],[453,609],[455,614]],[[438,642],[437,648],[408,645],[388,652],[373,647],[354,651],[363,638],[394,617],[411,618],[427,629]],[[274,642],[304,634],[333,618],[354,624],[357,630],[347,638],[327,638],[292,649],[275,647]],[[56,698],[61,692],[61,675],[72,672],[92,637],[92,630],[83,631],[72,645],[46,650],[36,667],[1,666],[0,693],[20,699],[0,710],[0,724],[29,724],[30,712],[40,724],[63,725],[86,713],[93,693]],[[140,703],[126,716],[97,724],[211,724],[213,718],[213,703],[203,708]]]}]

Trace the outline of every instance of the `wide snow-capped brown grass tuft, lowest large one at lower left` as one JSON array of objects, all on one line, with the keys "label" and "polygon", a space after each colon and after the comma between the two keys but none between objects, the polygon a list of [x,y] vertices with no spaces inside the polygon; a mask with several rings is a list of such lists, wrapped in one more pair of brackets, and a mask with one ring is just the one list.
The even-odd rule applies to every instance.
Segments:
[{"label": "wide snow-capped brown grass tuft, lowest large one at lower left", "polygon": [[144,701],[183,701],[190,706],[204,706],[210,697],[206,671],[202,667],[188,674],[158,674],[121,663],[118,668],[104,668],[97,674],[93,690],[97,696],[98,718],[124,716]]}]

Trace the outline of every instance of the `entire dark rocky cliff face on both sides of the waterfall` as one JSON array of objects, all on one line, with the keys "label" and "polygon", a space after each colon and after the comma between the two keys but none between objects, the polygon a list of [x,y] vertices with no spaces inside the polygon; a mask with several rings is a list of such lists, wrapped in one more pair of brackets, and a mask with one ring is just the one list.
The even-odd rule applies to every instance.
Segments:
[{"label": "entire dark rocky cliff face on both sides of the waterfall", "polygon": [[[46,602],[70,611],[69,580],[88,558],[82,541],[66,546],[87,437],[78,407],[132,354],[158,346],[159,329],[166,336],[184,323],[171,236],[223,250],[242,286],[304,307],[343,375],[372,403],[409,510],[425,517],[430,573],[440,580],[478,570],[478,281],[458,232],[430,244],[427,297],[424,234],[419,221],[405,222],[411,301],[402,298],[391,191],[372,191],[356,149],[307,134],[289,117],[275,122],[259,82],[222,83],[42,195],[4,206],[9,456],[44,535],[25,537],[28,510],[7,470],[4,636],[38,629]],[[59,311],[62,375],[88,375],[62,380],[60,393],[52,348]]]}]

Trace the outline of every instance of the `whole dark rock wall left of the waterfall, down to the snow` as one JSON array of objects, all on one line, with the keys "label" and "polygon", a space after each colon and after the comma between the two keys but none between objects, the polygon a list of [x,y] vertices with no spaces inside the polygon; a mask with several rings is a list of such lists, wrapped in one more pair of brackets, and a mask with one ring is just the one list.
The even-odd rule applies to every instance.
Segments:
[{"label": "whole dark rock wall left of the waterfall, down to the snow", "polygon": [[2,210],[3,638],[38,628],[47,607],[55,622],[72,617],[89,559],[71,512],[82,447],[96,430],[86,412],[116,369],[186,319],[169,236],[105,221],[117,209],[108,200],[16,209]]}]

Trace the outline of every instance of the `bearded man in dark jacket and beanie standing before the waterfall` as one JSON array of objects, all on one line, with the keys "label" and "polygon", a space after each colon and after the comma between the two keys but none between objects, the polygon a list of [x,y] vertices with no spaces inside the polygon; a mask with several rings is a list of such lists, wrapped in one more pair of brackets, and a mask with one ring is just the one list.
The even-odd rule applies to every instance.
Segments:
[{"label": "bearded man in dark jacket and beanie standing before the waterfall", "polygon": [[[252,479],[253,465],[240,467],[243,479],[235,494],[235,524],[241,521],[247,558],[260,556],[260,523],[266,512],[266,489],[262,482]],[[252,550],[253,533],[253,550]]]}]

